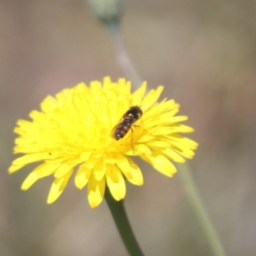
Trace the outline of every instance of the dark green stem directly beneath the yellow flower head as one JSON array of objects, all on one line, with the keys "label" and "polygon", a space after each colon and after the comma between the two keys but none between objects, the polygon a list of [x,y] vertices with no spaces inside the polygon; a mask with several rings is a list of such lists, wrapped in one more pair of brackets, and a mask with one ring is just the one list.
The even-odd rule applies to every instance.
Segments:
[{"label": "dark green stem directly beneath the yellow flower head", "polygon": [[119,202],[116,201],[113,196],[111,196],[108,187],[106,187],[105,199],[129,254],[131,256],[143,256],[140,245],[132,232],[131,225],[124,209],[123,200]]}]

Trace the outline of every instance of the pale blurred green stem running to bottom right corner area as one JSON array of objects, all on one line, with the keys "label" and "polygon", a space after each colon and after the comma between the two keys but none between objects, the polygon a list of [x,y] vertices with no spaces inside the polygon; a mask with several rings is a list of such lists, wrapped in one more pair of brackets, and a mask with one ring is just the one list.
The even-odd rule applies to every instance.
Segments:
[{"label": "pale blurred green stem running to bottom right corner area", "polygon": [[212,225],[212,222],[204,209],[204,205],[196,189],[195,182],[191,175],[190,166],[188,163],[179,164],[179,175],[184,184],[184,189],[193,211],[195,212],[198,221],[204,230],[204,234],[207,237],[209,245],[212,248],[212,252],[216,256],[227,256],[223,250],[220,239]]}]

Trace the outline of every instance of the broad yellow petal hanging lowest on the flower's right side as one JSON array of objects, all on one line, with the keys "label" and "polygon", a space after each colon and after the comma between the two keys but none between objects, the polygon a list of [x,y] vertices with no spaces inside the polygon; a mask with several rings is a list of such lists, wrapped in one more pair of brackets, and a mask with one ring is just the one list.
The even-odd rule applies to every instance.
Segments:
[{"label": "broad yellow petal hanging lowest on the flower's right side", "polygon": [[140,156],[142,159],[150,163],[157,171],[168,177],[172,177],[177,172],[175,166],[163,155],[154,153],[152,156]]}]

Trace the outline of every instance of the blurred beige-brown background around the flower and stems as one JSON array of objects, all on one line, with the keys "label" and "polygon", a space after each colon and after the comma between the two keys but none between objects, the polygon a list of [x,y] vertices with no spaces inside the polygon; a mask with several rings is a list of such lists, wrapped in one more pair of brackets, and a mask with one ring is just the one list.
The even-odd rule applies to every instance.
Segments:
[{"label": "blurred beige-brown background around the flower and stems", "polygon": [[[207,212],[228,255],[256,255],[255,1],[126,1],[125,44],[148,86],[177,100]],[[13,127],[46,95],[80,81],[124,73],[108,32],[79,0],[0,0],[0,255],[125,256],[105,202],[90,209],[70,182],[46,204],[52,178],[26,192],[33,166],[13,175]],[[127,77],[129,78],[129,77]],[[147,256],[211,256],[179,174],[143,166],[145,184],[127,184],[125,206]]]}]

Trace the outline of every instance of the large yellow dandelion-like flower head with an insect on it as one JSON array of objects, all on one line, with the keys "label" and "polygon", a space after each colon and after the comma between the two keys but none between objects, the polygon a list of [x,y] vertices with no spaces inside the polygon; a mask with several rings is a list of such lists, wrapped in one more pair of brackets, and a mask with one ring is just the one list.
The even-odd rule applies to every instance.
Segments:
[{"label": "large yellow dandelion-like flower head with an insect on it", "polygon": [[[138,186],[143,184],[143,175],[132,156],[140,156],[157,171],[172,177],[176,168],[171,161],[182,163],[184,157],[194,156],[197,143],[179,134],[193,129],[179,124],[187,116],[175,116],[179,104],[174,100],[157,102],[163,86],[147,95],[145,91],[146,83],[131,93],[129,81],[119,79],[113,83],[105,77],[103,83],[80,83],[55,98],[46,97],[42,111],[29,114],[32,121],[17,122],[14,131],[19,138],[15,140],[14,153],[24,156],[13,161],[9,172],[40,162],[24,180],[22,189],[53,175],[47,200],[51,204],[61,195],[76,168],[75,184],[79,189],[87,184],[92,208],[102,202],[106,186],[115,200],[122,200],[125,179]],[[129,129],[124,138],[115,140],[113,131],[131,106],[139,107],[143,115],[134,120],[131,129],[124,127]]]}]

